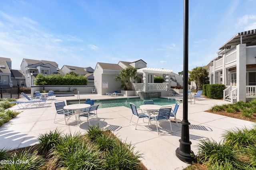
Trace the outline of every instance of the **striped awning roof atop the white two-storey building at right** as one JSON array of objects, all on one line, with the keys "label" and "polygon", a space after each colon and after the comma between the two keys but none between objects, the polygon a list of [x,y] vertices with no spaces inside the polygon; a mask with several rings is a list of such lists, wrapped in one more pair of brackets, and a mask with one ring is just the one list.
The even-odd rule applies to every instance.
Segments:
[{"label": "striped awning roof atop the white two-storey building at right", "polygon": [[244,31],[237,33],[234,37],[228,40],[224,45],[222,45],[219,50],[230,49],[232,45],[246,43],[246,46],[256,45],[256,29],[252,29],[250,31]]}]

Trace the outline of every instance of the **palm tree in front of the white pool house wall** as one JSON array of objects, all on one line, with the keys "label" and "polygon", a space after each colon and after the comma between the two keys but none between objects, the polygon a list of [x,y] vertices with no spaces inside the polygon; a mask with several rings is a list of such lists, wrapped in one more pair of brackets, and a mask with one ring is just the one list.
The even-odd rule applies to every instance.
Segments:
[{"label": "palm tree in front of the white pool house wall", "polygon": [[137,81],[139,79],[137,68],[132,66],[120,70],[119,75],[115,76],[115,80],[121,82],[120,88],[124,88],[124,90],[132,90],[132,80]]}]

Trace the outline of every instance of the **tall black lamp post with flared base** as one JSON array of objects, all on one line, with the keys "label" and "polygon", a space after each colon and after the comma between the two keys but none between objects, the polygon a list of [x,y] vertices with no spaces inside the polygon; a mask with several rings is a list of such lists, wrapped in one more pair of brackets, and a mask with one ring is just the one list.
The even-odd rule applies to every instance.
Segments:
[{"label": "tall black lamp post with flared base", "polygon": [[191,163],[194,152],[191,150],[189,140],[188,122],[188,0],[184,0],[184,49],[183,49],[183,119],[181,121],[180,147],[176,149],[176,156],[183,162]]}]

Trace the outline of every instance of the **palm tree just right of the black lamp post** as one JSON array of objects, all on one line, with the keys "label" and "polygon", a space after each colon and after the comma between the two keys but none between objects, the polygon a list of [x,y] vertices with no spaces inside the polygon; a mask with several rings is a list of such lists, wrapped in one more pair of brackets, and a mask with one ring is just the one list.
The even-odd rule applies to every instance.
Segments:
[{"label": "palm tree just right of the black lamp post", "polygon": [[203,67],[193,68],[191,71],[188,71],[190,81],[196,83],[196,90],[202,90],[203,85],[208,81],[208,72]]}]

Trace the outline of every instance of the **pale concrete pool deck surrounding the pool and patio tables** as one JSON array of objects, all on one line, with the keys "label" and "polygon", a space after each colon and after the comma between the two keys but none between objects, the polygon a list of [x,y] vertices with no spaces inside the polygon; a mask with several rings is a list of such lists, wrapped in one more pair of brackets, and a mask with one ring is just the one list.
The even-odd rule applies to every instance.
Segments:
[{"label": "pale concrete pool deck surrounding the pool and patio tables", "polygon": [[[112,97],[102,96],[98,94],[80,94],[80,100],[86,98],[100,99],[118,99],[127,98],[124,96]],[[77,125],[74,121],[75,117],[71,117],[68,121],[59,121],[54,123],[55,106],[57,100],[77,100],[78,96],[55,97],[53,100],[48,100],[43,107],[19,109],[18,106],[13,106],[9,109],[21,111],[17,117],[11,119],[0,127],[0,149],[9,148],[16,149],[27,147],[38,143],[40,134],[54,131],[56,128],[63,133],[74,134],[76,132],[86,133],[89,123],[86,118],[82,117],[82,123]],[[23,99],[24,100],[24,99]],[[221,135],[225,130],[231,128],[252,127],[253,122],[217,115],[205,112],[214,105],[228,104],[223,100],[211,100],[203,98],[196,102],[188,103],[188,120],[190,122],[190,141],[191,150],[196,154],[196,145],[200,140],[207,138],[220,141]],[[172,105],[174,108],[174,104]],[[180,104],[177,118],[182,120],[183,104]],[[131,109],[128,107],[108,107],[98,109],[98,119],[101,128],[111,130],[117,137],[131,143],[135,146],[135,151],[143,154],[142,162],[148,170],[182,170],[189,164],[182,162],[176,157],[175,151],[180,146],[179,139],[181,135],[181,125],[177,126],[172,122],[172,130],[168,122],[160,123],[159,135],[156,132],[154,121],[148,127],[147,120],[143,123],[139,120],[137,130],[129,125],[132,116]],[[63,119],[63,115],[57,115],[56,120]],[[90,119],[92,125],[97,125],[96,118]],[[132,124],[136,124],[136,118],[133,117]],[[159,127],[159,125],[158,125]]]}]

